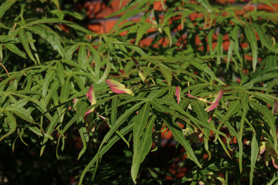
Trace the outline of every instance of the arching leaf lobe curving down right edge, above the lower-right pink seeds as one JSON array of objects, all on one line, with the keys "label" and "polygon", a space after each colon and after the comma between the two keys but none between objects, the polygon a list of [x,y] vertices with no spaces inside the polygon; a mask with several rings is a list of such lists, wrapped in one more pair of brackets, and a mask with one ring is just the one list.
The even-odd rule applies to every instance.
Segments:
[{"label": "arching leaf lobe curving down right edge, above the lower-right pink seeds", "polygon": [[[277,151],[277,134],[276,134],[276,128],[275,128],[275,118],[273,116],[273,114],[271,113],[271,111],[267,108],[267,106],[264,105],[259,105],[253,101],[249,101],[254,107],[256,107],[259,112],[261,112],[262,114],[264,114],[264,116],[266,116],[266,121],[268,123],[268,126],[271,129],[271,134],[273,136],[273,140],[274,140],[274,150],[276,153],[278,153]],[[257,134],[258,135],[258,134]]]}]

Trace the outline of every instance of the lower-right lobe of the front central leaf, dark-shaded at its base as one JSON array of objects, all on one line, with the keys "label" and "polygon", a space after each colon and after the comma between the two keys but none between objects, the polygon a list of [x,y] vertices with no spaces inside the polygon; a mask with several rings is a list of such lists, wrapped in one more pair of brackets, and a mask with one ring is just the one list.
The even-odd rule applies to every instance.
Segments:
[{"label": "lower-right lobe of the front central leaf, dark-shaded at its base", "polygon": [[175,139],[180,144],[182,144],[184,149],[187,151],[187,154],[191,158],[191,160],[193,160],[200,168],[202,168],[202,165],[199,163],[198,159],[196,158],[190,144],[185,140],[184,135],[182,133],[182,129],[176,123],[173,122],[172,118],[168,114],[165,114],[164,112],[160,112],[159,114],[163,119],[164,123],[171,130]]}]

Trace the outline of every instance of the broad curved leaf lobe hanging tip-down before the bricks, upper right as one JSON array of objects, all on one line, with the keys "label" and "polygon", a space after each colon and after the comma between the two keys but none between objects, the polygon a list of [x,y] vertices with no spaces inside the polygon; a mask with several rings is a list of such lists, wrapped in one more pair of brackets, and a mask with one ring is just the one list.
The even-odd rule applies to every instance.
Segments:
[{"label": "broad curved leaf lobe hanging tip-down before the bricks, upper right", "polygon": [[255,72],[256,66],[257,66],[257,61],[258,61],[257,38],[256,38],[256,35],[255,35],[255,32],[253,31],[253,29],[248,25],[244,26],[244,32],[245,32],[245,36],[249,42],[249,46],[252,51],[252,58],[253,58],[252,66],[253,66],[253,72]]}]

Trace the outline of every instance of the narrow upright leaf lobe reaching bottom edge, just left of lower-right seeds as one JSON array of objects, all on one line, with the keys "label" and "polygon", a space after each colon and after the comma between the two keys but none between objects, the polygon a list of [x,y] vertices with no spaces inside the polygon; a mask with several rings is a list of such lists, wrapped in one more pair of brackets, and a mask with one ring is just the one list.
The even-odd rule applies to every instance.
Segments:
[{"label": "narrow upright leaf lobe reaching bottom edge, just left of lower-right seeds", "polygon": [[260,127],[257,130],[257,136],[255,134],[253,135],[253,138],[251,141],[251,170],[250,170],[250,181],[249,181],[250,185],[252,185],[252,183],[253,183],[253,172],[254,172],[255,163],[257,160],[260,142],[261,142],[261,130],[262,130],[262,127]]}]

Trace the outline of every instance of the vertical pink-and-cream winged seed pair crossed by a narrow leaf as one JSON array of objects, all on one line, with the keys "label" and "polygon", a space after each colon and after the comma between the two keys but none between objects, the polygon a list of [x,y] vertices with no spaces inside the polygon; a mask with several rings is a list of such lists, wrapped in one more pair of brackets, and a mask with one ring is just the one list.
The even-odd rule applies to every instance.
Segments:
[{"label": "vertical pink-and-cream winged seed pair crossed by a narrow leaf", "polygon": [[[91,86],[88,90],[88,92],[86,93],[87,95],[87,98],[89,99],[89,101],[91,102],[91,105],[94,105],[96,104],[96,98],[95,98],[95,93],[94,93],[94,88],[93,86]],[[89,130],[91,130],[92,132],[95,131],[95,127],[94,127],[94,124],[92,123],[93,122],[93,112],[95,110],[95,107],[88,110],[86,113],[85,113],[85,116],[84,116],[84,121],[86,124],[89,125]]]}]

